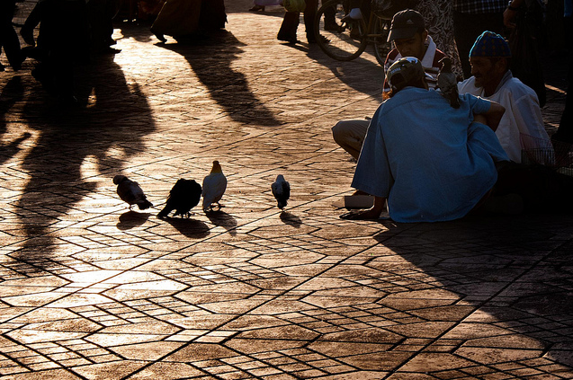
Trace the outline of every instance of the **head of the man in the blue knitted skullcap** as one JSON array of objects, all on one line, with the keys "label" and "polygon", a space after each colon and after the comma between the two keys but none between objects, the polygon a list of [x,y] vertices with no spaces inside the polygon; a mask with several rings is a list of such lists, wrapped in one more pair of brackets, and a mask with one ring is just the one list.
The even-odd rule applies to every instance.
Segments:
[{"label": "head of the man in the blue knitted skullcap", "polygon": [[470,50],[471,75],[477,87],[486,93],[496,90],[509,69],[511,51],[506,40],[497,33],[484,31]]}]

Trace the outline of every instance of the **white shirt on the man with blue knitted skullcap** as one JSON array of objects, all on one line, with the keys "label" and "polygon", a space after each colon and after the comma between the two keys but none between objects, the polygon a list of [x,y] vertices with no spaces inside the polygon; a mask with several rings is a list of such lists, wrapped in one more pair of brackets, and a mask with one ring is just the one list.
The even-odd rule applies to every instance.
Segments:
[{"label": "white shirt on the man with blue knitted skullcap", "polygon": [[[476,87],[475,79],[472,76],[459,83],[458,90],[461,94],[471,93],[498,102],[506,108],[496,135],[510,160],[521,163],[522,149],[535,147],[531,146],[532,142],[537,142],[538,146],[548,146],[550,137],[543,124],[539,100],[530,87],[515,78],[511,71],[507,71],[496,92],[491,96],[484,96],[483,87]],[[526,135],[524,140],[526,139],[528,146],[522,144],[520,135]]]}]

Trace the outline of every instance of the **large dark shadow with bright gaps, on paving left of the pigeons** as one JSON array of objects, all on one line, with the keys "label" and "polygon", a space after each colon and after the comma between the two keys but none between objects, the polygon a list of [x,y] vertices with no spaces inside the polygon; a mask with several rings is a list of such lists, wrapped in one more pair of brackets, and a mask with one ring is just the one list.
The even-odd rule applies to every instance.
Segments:
[{"label": "large dark shadow with bright gaps, on paving left of the pigeons", "polygon": [[[30,179],[15,202],[24,243],[13,254],[22,260],[47,258],[57,250],[52,225],[77,213],[77,205],[93,197],[94,178],[101,173],[110,173],[112,183],[131,156],[146,150],[144,137],[156,128],[145,94],[138,84],[127,83],[113,57],[96,57],[79,66],[76,87],[76,107],[58,106],[42,91],[31,91],[25,99],[22,118],[37,138],[22,161],[22,171]],[[91,172],[85,172],[85,163]],[[97,213],[97,208],[82,212]],[[118,228],[141,222],[130,216],[124,214]]]}]

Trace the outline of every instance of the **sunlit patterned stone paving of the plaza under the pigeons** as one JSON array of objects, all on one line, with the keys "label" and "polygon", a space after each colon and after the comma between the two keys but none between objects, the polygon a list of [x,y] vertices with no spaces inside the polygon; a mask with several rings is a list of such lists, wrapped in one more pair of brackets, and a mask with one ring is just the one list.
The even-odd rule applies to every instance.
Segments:
[{"label": "sunlit patterned stone paving of the plaza under the pigeons", "polygon": [[[573,378],[573,217],[339,219],[355,163],[330,128],[372,115],[381,66],[227,4],[227,31],[191,44],[117,22],[75,109],[30,61],[0,73],[0,377]],[[565,67],[548,73],[554,131]],[[225,207],[157,219],[213,160]],[[119,173],[155,207],[130,211]]]}]

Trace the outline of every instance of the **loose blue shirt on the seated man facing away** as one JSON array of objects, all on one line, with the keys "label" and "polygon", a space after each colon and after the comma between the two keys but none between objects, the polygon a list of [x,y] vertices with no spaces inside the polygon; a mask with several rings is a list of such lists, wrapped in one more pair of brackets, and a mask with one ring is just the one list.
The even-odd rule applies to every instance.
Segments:
[{"label": "loose blue shirt on the seated man facing away", "polygon": [[352,186],[388,199],[397,222],[464,217],[497,181],[496,161],[508,160],[496,134],[472,122],[490,103],[460,97],[453,109],[434,90],[406,87],[376,110]]}]

